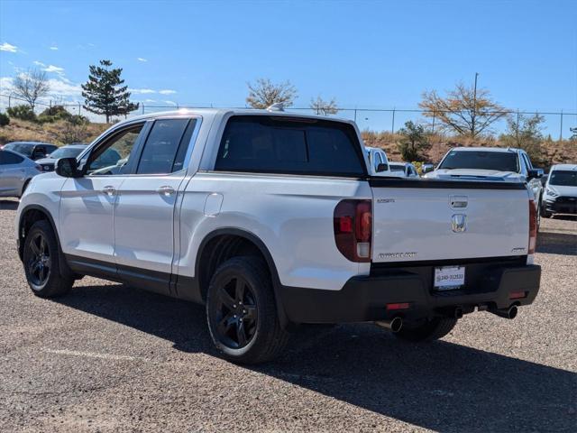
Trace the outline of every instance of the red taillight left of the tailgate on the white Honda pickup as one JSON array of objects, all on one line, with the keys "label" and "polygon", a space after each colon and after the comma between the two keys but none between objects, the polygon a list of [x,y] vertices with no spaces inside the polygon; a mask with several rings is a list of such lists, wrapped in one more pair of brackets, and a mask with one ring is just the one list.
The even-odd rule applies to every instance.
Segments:
[{"label": "red taillight left of the tailgate on the white Honda pickup", "polygon": [[342,200],[334,207],[334,241],[353,262],[371,262],[371,200]]}]

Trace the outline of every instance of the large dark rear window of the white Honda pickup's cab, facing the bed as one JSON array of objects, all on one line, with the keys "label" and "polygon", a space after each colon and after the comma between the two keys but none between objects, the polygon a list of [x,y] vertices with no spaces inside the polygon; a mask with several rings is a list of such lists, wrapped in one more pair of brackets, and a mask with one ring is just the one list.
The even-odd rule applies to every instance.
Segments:
[{"label": "large dark rear window of the white Honda pickup's cab, facing the bed", "polygon": [[215,170],[362,176],[352,126],[324,120],[239,115],[224,128]]}]

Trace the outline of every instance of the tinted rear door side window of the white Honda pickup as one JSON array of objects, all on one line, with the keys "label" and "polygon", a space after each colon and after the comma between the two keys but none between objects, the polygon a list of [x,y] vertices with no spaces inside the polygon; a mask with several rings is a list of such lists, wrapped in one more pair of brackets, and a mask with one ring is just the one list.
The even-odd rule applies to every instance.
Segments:
[{"label": "tinted rear door side window of the white Honda pickup", "polygon": [[164,119],[154,122],[136,173],[167,174],[182,169],[196,122],[196,119]]}]

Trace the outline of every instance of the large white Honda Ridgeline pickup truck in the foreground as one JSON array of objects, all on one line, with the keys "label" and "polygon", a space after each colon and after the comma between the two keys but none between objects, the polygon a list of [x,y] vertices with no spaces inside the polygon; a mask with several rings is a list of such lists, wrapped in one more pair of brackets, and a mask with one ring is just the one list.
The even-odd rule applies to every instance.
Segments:
[{"label": "large white Honda Ridgeline pickup truck in the foreground", "polygon": [[[103,155],[112,149],[118,161]],[[35,177],[16,217],[34,294],[84,275],[206,305],[229,359],[271,359],[298,324],[375,322],[410,341],[536,298],[521,183],[378,178],[353,122],[205,109],[114,124]],[[426,209],[425,211],[423,209]]]}]

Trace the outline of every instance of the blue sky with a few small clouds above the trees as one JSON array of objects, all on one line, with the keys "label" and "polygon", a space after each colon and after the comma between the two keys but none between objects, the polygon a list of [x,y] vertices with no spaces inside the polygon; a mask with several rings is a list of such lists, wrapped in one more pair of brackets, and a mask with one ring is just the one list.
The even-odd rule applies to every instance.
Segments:
[{"label": "blue sky with a few small clouds above the trees", "polygon": [[[423,90],[479,72],[504,106],[577,112],[572,0],[0,0],[0,50],[4,89],[37,66],[66,100],[78,99],[89,64],[109,59],[145,105],[243,106],[246,82],[267,77],[289,79],[296,106],[320,94],[340,106],[415,108]],[[577,125],[567,117],[567,129]],[[359,122],[389,124],[371,114]]]}]

